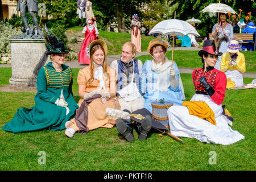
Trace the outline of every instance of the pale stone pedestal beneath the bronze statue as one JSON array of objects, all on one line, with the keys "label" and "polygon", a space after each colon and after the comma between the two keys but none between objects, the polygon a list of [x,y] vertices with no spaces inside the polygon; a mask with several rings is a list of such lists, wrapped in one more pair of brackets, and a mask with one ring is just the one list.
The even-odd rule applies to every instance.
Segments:
[{"label": "pale stone pedestal beneath the bronze statue", "polygon": [[[36,86],[33,71],[46,51],[44,39],[8,39],[11,43],[11,78],[10,86]],[[49,62],[46,61],[46,64]]]}]

